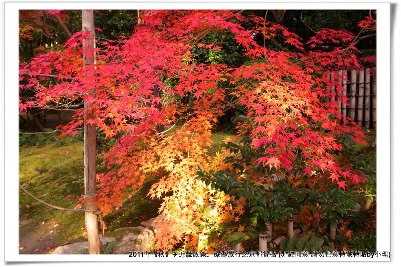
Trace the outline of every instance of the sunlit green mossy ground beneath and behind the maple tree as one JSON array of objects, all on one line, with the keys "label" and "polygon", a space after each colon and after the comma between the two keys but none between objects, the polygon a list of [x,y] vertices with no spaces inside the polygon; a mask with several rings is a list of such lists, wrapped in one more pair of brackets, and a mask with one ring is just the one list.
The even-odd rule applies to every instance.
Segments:
[{"label": "sunlit green mossy ground beneath and behind the maple tree", "polygon": [[[222,140],[231,136],[229,133],[215,132],[212,136],[214,143],[209,149],[210,155],[214,156],[221,149]],[[83,142],[71,138],[37,147],[20,147],[20,184],[51,205],[73,209],[84,192],[83,151]],[[101,160],[97,160],[97,172],[106,171],[100,164]],[[154,182],[155,180],[151,179],[145,181],[142,187],[129,192],[131,198],[127,198],[114,212],[103,217],[106,231],[139,226],[142,221],[158,215],[161,200],[146,196]],[[55,244],[85,239],[83,212],[48,207],[22,189],[19,194],[19,216],[20,222],[24,222],[20,226],[22,232],[38,230],[38,225],[43,225],[43,231],[55,234]]]}]

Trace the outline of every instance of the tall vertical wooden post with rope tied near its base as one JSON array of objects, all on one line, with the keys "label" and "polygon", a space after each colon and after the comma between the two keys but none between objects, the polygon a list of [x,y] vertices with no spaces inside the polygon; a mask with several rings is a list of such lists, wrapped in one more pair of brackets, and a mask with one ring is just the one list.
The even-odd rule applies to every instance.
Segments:
[{"label": "tall vertical wooden post with rope tied near its base", "polygon": [[[90,84],[91,77],[89,73],[95,63],[93,53],[95,37],[93,10],[82,10],[82,31],[90,31],[90,36],[82,42],[84,69],[87,70],[86,84]],[[94,87],[90,86],[89,93],[92,92],[94,92]],[[86,209],[96,210],[98,208],[96,198],[96,125],[85,123],[87,119],[93,118],[91,106],[92,103],[84,101],[84,202]],[[100,254],[98,218],[93,212],[85,212],[85,227],[88,236],[89,254]]]}]

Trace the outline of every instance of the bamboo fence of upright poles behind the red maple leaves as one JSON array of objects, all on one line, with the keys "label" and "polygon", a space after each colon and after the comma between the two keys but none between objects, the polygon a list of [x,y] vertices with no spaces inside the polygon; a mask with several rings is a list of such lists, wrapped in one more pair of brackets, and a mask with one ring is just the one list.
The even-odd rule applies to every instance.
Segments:
[{"label": "bamboo fence of upright poles behind the red maple leaves", "polygon": [[[342,86],[336,90],[339,113],[359,126],[376,129],[376,68],[339,70],[330,75],[330,81],[335,79]],[[348,105],[341,101],[344,97]]]}]

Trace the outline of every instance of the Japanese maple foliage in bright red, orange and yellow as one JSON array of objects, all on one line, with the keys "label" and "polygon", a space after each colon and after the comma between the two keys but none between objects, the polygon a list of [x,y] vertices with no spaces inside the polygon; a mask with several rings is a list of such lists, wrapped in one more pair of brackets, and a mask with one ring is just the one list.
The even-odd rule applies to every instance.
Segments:
[{"label": "Japanese maple foliage in bright red, orange and yellow", "polygon": [[[163,198],[160,213],[165,219],[156,233],[157,249],[173,249],[180,243],[188,249],[211,248],[210,233],[222,223],[238,221],[245,200],[233,205],[229,195],[196,179],[196,173],[198,165],[205,171],[230,167],[224,161],[233,155],[230,149],[213,158],[207,149],[218,117],[237,104],[248,118],[237,127],[238,139],[249,138],[260,154],[252,164],[274,175],[260,179],[254,172],[236,179],[269,185],[279,177],[295,185],[323,182],[341,190],[363,181],[363,173],[337,156],[343,149],[342,136],[357,142],[364,137],[337,108],[344,88],[336,71],[360,67],[353,53],[358,36],[322,29],[304,44],[279,24],[236,11],[141,10],[140,14],[130,38],[97,40],[96,65],[89,75],[81,59],[82,40],[89,32],[73,34],[63,50],[40,54],[20,69],[20,90],[35,95],[20,99],[20,110],[75,109],[72,121],[60,126],[62,135],[74,135],[89,123],[106,138],[118,139],[104,156],[110,171],[97,175],[104,213],[121,203],[127,188],[136,189],[146,178],[158,177],[149,192]],[[362,29],[374,25],[372,17],[359,24]],[[216,32],[229,32],[252,62],[200,63],[197,53],[222,48],[205,42],[205,36]],[[262,47],[255,34],[267,40],[279,36],[291,50]],[[56,82],[46,82],[50,78]],[[91,103],[91,119],[83,116],[84,100]],[[340,100],[347,102],[345,97]],[[182,127],[170,131],[176,124]],[[159,132],[159,125],[166,130]]]}]

